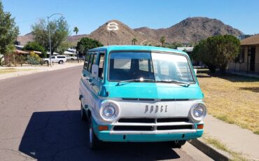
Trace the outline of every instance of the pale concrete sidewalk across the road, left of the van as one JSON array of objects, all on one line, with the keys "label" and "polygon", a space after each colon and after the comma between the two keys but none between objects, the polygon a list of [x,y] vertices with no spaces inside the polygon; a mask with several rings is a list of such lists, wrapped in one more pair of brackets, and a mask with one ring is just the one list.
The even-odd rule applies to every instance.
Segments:
[{"label": "pale concrete sidewalk across the road, left of the van", "polygon": [[69,63],[66,62],[65,64],[55,64],[54,66],[50,67],[50,66],[17,66],[17,67],[0,67],[1,69],[30,69],[29,71],[15,71],[15,72],[11,72],[11,73],[2,73],[0,74],[0,80],[1,79],[5,79],[5,78],[12,78],[12,77],[16,77],[16,76],[25,76],[31,73],[38,73],[38,72],[43,72],[43,71],[54,71],[54,70],[58,70],[58,69],[65,69],[65,68],[69,68],[69,67],[73,67],[73,66],[82,66],[83,68],[83,62],[81,63]]}]

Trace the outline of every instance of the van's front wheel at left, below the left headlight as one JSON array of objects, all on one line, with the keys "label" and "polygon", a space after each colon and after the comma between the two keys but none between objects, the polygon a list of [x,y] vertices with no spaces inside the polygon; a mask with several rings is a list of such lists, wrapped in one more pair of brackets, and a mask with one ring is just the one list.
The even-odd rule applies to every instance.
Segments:
[{"label": "van's front wheel at left, below the left headlight", "polygon": [[100,141],[94,134],[92,128],[92,116],[89,118],[89,146],[91,150],[96,150],[101,146],[102,141]]}]

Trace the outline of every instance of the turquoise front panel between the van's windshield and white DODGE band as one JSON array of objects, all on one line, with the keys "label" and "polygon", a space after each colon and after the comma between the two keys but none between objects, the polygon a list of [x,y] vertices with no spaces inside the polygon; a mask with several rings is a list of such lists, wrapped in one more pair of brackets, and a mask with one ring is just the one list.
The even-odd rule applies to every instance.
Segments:
[{"label": "turquoise front panel between the van's windshield and white DODGE band", "polygon": [[135,99],[203,99],[200,86],[183,87],[173,83],[124,83],[105,86],[108,97]]}]

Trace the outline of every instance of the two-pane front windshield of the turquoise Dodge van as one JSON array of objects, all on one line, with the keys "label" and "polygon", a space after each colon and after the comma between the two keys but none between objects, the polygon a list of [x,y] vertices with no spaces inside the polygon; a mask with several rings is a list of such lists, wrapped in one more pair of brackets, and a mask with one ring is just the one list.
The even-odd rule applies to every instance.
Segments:
[{"label": "two-pane front windshield of the turquoise Dodge van", "polygon": [[185,56],[155,52],[111,52],[109,80],[195,82]]}]

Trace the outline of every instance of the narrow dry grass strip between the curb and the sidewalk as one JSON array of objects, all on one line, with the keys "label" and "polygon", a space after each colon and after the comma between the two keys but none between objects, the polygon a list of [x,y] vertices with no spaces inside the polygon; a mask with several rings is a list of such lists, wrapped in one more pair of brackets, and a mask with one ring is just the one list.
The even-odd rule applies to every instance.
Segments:
[{"label": "narrow dry grass strip between the curb and the sidewalk", "polygon": [[202,139],[204,139],[207,144],[211,144],[212,146],[221,149],[222,151],[228,152],[230,155],[232,155],[233,160],[246,160],[246,158],[243,157],[241,153],[237,153],[235,151],[230,150],[225,144],[221,143],[218,139],[209,137],[207,134],[204,134],[202,136]]}]

